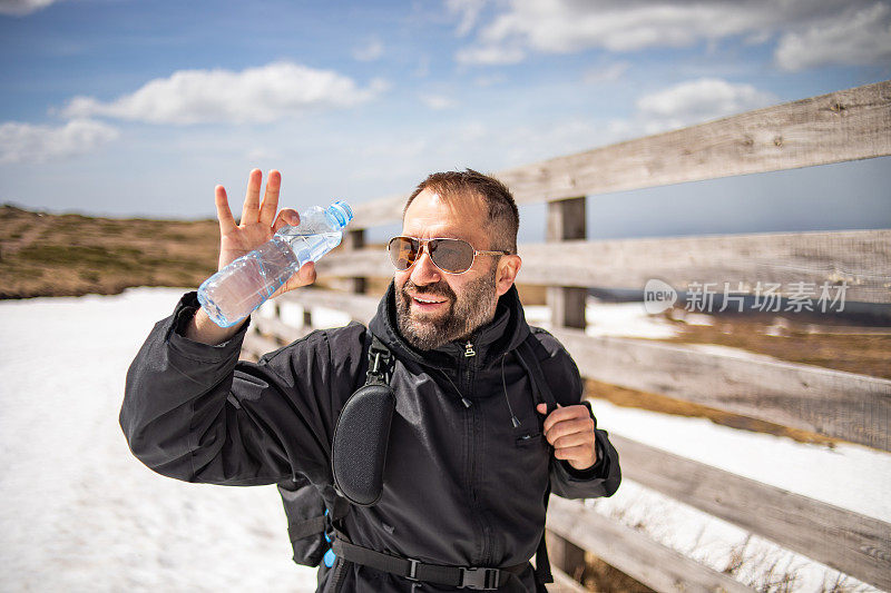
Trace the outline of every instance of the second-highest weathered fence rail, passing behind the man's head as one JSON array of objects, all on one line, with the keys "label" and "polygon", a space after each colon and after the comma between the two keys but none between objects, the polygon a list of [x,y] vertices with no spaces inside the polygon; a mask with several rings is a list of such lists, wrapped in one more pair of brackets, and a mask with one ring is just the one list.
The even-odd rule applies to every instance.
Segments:
[{"label": "second-highest weathered fence rail, passing behind the man's head", "polygon": [[[709,284],[723,295],[724,283],[731,293],[748,294],[762,283],[762,294],[779,284],[777,294],[789,296],[794,283],[807,283],[816,306],[824,283],[831,297],[840,290],[835,285],[845,283],[845,302],[891,303],[888,229],[544,243],[520,245],[520,256],[518,279],[527,284],[643,289],[658,278],[677,290],[693,281]],[[320,277],[393,275],[380,248],[332,254],[317,269]]]}]

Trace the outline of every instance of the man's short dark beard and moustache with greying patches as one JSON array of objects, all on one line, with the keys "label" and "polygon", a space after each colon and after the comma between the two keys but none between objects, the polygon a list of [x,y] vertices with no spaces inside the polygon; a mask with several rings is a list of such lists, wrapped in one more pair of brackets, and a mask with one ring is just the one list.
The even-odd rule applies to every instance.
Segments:
[{"label": "man's short dark beard and moustache with greying patches", "polygon": [[[492,266],[488,275],[468,284],[460,298],[444,280],[422,287],[407,280],[402,288],[395,289],[399,332],[419,350],[433,350],[449,342],[469,337],[477,328],[492,320],[493,306],[498,300],[495,278],[496,266]],[[444,297],[450,302],[449,309],[439,315],[412,314],[409,289]]]}]

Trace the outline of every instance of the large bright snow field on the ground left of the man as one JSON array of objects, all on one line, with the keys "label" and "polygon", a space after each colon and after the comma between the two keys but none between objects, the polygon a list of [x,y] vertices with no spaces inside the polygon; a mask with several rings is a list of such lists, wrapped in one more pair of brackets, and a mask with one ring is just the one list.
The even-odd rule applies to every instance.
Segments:
[{"label": "large bright snow field on the ground left of the man", "polygon": [[315,591],[275,486],[177,482],[127,448],[127,367],[184,291],[0,303],[0,591]]}]

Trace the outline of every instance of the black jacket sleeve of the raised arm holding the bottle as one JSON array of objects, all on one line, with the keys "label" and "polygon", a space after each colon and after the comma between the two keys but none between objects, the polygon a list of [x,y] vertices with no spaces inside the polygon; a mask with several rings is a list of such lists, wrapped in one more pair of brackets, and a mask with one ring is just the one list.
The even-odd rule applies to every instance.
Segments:
[{"label": "black jacket sleeve of the raised arm holding the bottle", "polygon": [[195,293],[155,325],[127,373],[120,426],[153,471],[187,482],[272,484],[330,474],[333,385],[329,336],[316,332],[238,360],[247,324],[218,346],[184,337]]}]

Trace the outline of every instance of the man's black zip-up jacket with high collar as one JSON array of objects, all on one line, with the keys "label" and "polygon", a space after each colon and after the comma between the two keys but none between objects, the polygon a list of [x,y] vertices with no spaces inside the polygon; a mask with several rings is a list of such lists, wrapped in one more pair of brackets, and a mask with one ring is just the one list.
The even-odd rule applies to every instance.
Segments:
[{"label": "man's black zip-up jacket with high collar", "polygon": [[[300,472],[331,484],[332,435],[343,404],[364,383],[369,329],[352,323],[314,332],[254,364],[238,360],[244,329],[218,346],[185,338],[197,307],[195,293],[185,295],[129,368],[120,425],[134,455],[187,482],[274,484]],[[472,336],[473,356],[456,343],[419,352],[396,327],[391,284],[369,328],[395,355],[396,409],[381,501],[345,518],[353,543],[433,564],[516,565],[536,553],[549,478],[551,492],[566,498],[616,492],[618,455],[605,431],[596,429],[601,461],[594,467],[579,472],[552,457],[515,349],[536,334],[561,405],[579,403],[581,380],[557,339],[527,325],[515,288]],[[420,587],[439,590],[446,589]],[[535,591],[531,565],[503,590]],[[350,565],[342,591],[412,587]]]}]

